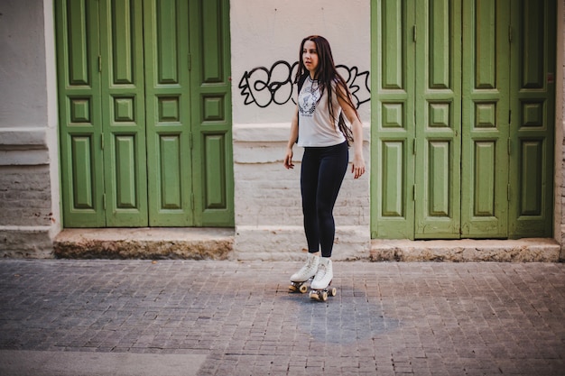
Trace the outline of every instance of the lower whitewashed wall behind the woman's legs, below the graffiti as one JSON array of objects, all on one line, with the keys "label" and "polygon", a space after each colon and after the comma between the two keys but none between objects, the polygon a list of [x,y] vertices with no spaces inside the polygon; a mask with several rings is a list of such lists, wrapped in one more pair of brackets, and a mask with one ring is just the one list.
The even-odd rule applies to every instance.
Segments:
[{"label": "lower whitewashed wall behind the woman's legs, below the graffiti", "polygon": [[[294,146],[294,170],[285,170],[282,166],[289,127],[290,124],[235,127],[235,251],[238,259],[295,260],[300,259],[300,251],[305,250],[300,191],[302,149]],[[369,254],[368,140],[366,124],[367,173],[354,180],[347,170],[334,209],[336,259],[358,259]]]}]

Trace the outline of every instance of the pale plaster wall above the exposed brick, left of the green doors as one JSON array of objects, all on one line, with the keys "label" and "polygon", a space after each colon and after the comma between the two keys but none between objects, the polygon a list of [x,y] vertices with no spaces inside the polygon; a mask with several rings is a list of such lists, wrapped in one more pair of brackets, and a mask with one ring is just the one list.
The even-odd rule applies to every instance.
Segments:
[{"label": "pale plaster wall above the exposed brick, left of the green doors", "polygon": [[[0,166],[44,164],[47,96],[41,0],[0,2]],[[23,150],[23,146],[29,146]]]}]

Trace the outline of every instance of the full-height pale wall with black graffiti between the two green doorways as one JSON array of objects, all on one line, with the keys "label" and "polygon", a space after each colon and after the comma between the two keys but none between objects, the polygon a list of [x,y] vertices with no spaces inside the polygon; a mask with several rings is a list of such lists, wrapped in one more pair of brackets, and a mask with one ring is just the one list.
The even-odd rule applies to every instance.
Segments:
[{"label": "full-height pale wall with black graffiti between the two green doorways", "polygon": [[[293,64],[304,37],[329,40],[336,64],[344,66],[340,72],[359,87],[368,166],[370,1],[349,1],[347,9],[340,0],[233,0],[230,7],[236,257],[301,258],[301,148],[294,147],[294,170],[282,166],[296,95]],[[370,247],[368,176],[354,181],[348,173],[341,188],[336,259],[366,255]]]}]

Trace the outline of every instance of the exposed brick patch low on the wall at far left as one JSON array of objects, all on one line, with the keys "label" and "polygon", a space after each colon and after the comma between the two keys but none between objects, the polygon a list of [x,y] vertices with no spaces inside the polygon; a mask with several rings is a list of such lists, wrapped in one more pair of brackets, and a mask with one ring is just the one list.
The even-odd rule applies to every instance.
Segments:
[{"label": "exposed brick patch low on the wall at far left", "polygon": [[0,167],[0,226],[51,225],[48,165]]}]

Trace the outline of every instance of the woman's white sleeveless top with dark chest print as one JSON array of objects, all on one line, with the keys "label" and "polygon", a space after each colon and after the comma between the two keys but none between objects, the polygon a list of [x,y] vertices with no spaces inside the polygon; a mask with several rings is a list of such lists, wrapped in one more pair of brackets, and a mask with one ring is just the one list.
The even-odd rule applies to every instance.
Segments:
[{"label": "woman's white sleeveless top with dark chest print", "polygon": [[326,87],[323,96],[320,98],[318,80],[312,80],[309,76],[304,81],[298,95],[298,146],[333,146],[346,141],[338,126],[341,106],[336,94],[336,83],[332,82],[331,86],[331,102],[336,116],[335,121],[329,115],[328,89]]}]

